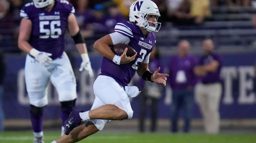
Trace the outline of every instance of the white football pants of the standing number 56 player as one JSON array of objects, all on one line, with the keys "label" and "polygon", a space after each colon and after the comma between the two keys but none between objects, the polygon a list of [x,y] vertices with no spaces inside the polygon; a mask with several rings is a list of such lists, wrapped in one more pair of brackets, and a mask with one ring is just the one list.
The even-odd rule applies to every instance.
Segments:
[{"label": "white football pants of the standing number 56 player", "polygon": [[43,107],[48,104],[47,85],[49,80],[56,88],[60,102],[77,98],[76,79],[65,52],[61,57],[53,60],[49,66],[43,66],[27,55],[25,82],[31,105]]}]

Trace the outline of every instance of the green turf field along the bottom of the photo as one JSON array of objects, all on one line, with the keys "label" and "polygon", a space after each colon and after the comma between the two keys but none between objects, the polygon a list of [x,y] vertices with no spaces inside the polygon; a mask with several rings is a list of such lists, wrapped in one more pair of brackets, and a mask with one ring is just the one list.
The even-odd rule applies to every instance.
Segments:
[{"label": "green turf field along the bottom of the photo", "polygon": [[[59,137],[58,132],[44,132],[45,143]],[[0,143],[32,143],[32,132],[0,132]],[[79,143],[255,143],[255,134],[160,134],[160,133],[101,133]]]}]

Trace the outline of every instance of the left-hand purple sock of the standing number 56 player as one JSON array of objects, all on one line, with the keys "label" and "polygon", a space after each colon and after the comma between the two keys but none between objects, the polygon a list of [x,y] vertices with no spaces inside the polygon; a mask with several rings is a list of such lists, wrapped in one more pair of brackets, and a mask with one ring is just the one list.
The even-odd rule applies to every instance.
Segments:
[{"label": "left-hand purple sock of the standing number 56 player", "polygon": [[34,132],[43,131],[43,118],[44,118],[43,113],[41,114],[30,113],[30,120],[31,120]]}]

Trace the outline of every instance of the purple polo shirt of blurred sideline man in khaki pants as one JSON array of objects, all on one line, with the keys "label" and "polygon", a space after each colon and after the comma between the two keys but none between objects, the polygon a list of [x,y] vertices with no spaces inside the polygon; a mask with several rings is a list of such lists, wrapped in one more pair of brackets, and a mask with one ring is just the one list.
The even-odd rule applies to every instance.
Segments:
[{"label": "purple polo shirt of blurred sideline man in khaki pants", "polygon": [[220,69],[222,66],[222,61],[219,55],[215,53],[210,53],[209,55],[204,55],[200,59],[199,64],[200,65],[207,65],[209,64],[212,60],[216,60],[219,62],[219,67],[216,72],[209,72],[205,76],[201,78],[202,83],[215,83],[215,82],[220,82]]}]

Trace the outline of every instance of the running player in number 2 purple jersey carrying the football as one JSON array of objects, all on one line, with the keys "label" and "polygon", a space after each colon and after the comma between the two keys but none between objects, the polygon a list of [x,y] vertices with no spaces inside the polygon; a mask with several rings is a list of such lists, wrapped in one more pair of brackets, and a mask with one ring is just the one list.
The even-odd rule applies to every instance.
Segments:
[{"label": "running player in number 2 purple jersey carrying the football", "polygon": [[[128,97],[136,97],[140,91],[127,86],[138,73],[148,82],[166,85],[168,74],[158,73],[160,67],[151,73],[148,69],[150,52],[153,50],[161,23],[157,5],[150,0],[137,0],[130,7],[130,22],[120,22],[115,32],[98,39],[94,48],[104,57],[101,73],[94,82],[95,100],[91,110],[73,110],[65,122],[65,134],[52,143],[74,143],[103,129],[110,120],[130,119],[133,110]],[[115,55],[109,46],[124,43],[132,46],[136,53],[126,56]],[[83,121],[85,124],[80,125]],[[78,126],[80,125],[80,126]]]}]

